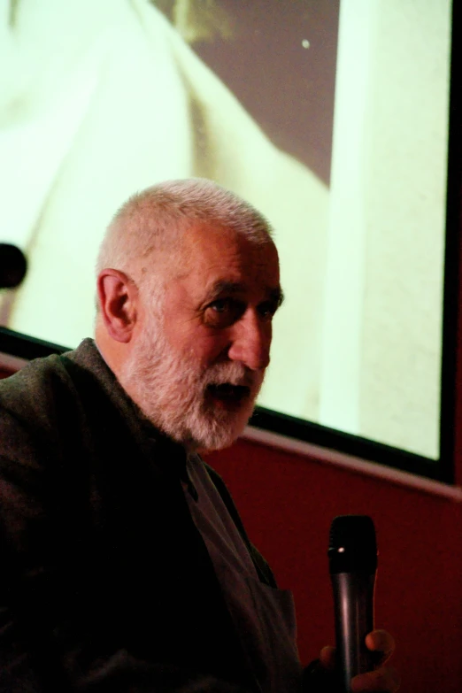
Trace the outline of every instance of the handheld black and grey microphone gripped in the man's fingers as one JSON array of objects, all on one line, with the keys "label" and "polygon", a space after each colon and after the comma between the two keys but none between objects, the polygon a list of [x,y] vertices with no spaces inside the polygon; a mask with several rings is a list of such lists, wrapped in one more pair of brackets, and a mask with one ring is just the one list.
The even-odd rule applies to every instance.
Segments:
[{"label": "handheld black and grey microphone gripped in the man's fingers", "polygon": [[377,544],[367,515],[334,518],[329,536],[329,572],[334,593],[335,640],[343,689],[357,674],[373,670],[365,638],[373,630]]}]

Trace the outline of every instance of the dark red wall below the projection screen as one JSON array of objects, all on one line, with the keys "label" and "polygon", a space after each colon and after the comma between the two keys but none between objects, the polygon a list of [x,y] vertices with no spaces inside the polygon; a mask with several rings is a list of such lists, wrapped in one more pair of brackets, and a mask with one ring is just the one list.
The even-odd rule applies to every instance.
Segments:
[{"label": "dark red wall below the projection screen", "polygon": [[402,689],[460,693],[462,504],[249,441],[208,459],[280,586],[294,592],[302,661],[335,642],[331,520],[364,513],[380,552],[376,624],[397,639]]}]

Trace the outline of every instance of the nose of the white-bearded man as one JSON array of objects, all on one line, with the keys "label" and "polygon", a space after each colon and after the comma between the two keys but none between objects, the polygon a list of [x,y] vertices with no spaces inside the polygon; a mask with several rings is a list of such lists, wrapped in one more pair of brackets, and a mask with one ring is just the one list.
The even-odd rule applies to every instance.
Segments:
[{"label": "nose of the white-bearded man", "polygon": [[270,362],[271,335],[271,322],[246,312],[233,326],[228,358],[240,361],[251,371],[264,370]]}]

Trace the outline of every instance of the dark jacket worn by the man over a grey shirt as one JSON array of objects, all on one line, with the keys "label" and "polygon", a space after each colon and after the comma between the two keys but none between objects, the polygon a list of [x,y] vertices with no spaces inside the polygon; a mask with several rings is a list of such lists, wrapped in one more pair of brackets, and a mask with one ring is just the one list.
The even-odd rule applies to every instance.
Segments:
[{"label": "dark jacket worn by the man over a grey shirt", "polygon": [[0,690],[254,688],[184,474],[91,340],[0,383]]}]

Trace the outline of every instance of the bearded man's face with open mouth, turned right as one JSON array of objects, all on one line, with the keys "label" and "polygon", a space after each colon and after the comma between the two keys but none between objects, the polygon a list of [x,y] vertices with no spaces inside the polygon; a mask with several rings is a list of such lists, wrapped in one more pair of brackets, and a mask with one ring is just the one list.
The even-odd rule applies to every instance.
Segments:
[{"label": "bearded man's face with open mouth, turned right", "polygon": [[174,440],[225,447],[249,420],[269,363],[281,302],[277,251],[201,225],[168,265],[162,316],[145,305],[123,383]]}]

